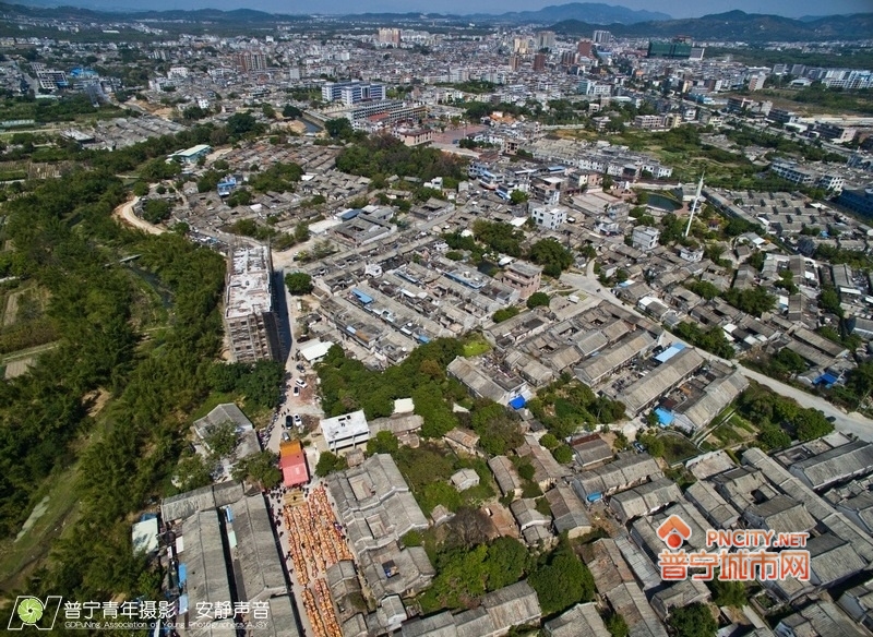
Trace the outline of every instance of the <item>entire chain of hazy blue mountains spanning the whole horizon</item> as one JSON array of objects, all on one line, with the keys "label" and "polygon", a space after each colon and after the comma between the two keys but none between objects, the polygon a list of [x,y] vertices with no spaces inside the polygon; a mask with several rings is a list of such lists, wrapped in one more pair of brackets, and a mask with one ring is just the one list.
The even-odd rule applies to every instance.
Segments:
[{"label": "entire chain of hazy blue mountains spanning the whole horizon", "polygon": [[[111,2],[113,0],[79,0],[82,3]],[[118,1],[118,0],[115,0]],[[158,0],[159,2],[160,0]],[[232,1],[232,0],[224,0]],[[273,14],[253,9],[199,9],[193,11],[97,11],[81,7],[48,8],[52,0],[28,0],[31,5],[5,4],[0,2],[0,12],[21,13],[29,16],[89,20],[89,21],[134,21],[166,20],[203,22],[224,25],[264,25],[271,22],[300,22],[308,15]],[[319,14],[324,15],[324,14]],[[703,17],[670,20],[669,15],[649,11],[632,11],[624,7],[610,4],[573,2],[546,7],[539,11],[503,13],[501,15],[473,14],[446,15],[422,13],[362,13],[346,16],[332,16],[337,21],[355,23],[410,24],[439,20],[443,23],[477,25],[487,24],[540,24],[564,35],[590,37],[595,29],[607,29],[617,36],[669,38],[686,35],[695,39],[739,40],[739,41],[813,41],[833,39],[866,39],[873,34],[873,13],[854,15],[829,15],[824,17],[804,16],[800,20],[780,15],[764,15],[729,11]]]}]

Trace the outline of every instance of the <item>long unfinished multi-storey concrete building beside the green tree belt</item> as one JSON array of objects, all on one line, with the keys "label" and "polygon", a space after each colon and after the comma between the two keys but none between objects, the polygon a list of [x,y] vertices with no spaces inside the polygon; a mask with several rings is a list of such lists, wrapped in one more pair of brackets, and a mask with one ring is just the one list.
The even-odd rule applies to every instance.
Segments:
[{"label": "long unfinished multi-storey concrete building beside the green tree belt", "polygon": [[280,356],[273,311],[270,248],[235,248],[225,291],[225,325],[236,362],[276,360]]}]

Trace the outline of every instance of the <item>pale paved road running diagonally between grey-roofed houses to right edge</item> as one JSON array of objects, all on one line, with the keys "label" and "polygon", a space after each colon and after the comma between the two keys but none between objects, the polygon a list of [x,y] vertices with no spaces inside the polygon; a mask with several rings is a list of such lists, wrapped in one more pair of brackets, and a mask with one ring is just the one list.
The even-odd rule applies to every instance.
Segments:
[{"label": "pale paved road running diagonally between grey-roofed houses to right edge", "polygon": [[[605,288],[600,285],[600,283],[594,276],[594,262],[588,263],[588,267],[586,268],[586,275],[582,274],[573,274],[573,273],[564,273],[561,275],[561,281],[565,283],[570,286],[575,287],[576,289],[582,290],[585,292],[589,300],[584,302],[589,302],[594,304],[598,299],[606,301],[608,303],[613,303],[615,305],[621,305],[625,310],[633,312],[637,316],[642,316],[639,312],[637,312],[634,308],[630,305],[625,305],[621,302],[621,300],[612,293],[609,288]],[[681,341],[680,338],[673,336],[672,339],[674,341]],[[685,344],[687,345],[687,344]],[[725,359],[720,359],[709,352],[698,350],[701,354],[710,360],[720,360],[728,364],[736,364],[736,361],[728,361]],[[873,420],[862,416],[860,413],[846,413],[839,407],[836,407],[822,398],[821,396],[814,396],[812,394],[808,394],[802,389],[798,389],[797,387],[792,387],[791,385],[787,385],[780,381],[775,378],[770,378],[769,376],[765,376],[754,370],[750,370],[744,365],[737,365],[746,378],[751,378],[757,381],[762,385],[766,385],[774,392],[781,394],[782,396],[788,396],[793,398],[798,401],[801,407],[805,408],[813,408],[821,410],[826,417],[834,418],[834,426],[837,431],[844,433],[850,433],[857,435],[859,438],[864,441],[873,441]]]}]

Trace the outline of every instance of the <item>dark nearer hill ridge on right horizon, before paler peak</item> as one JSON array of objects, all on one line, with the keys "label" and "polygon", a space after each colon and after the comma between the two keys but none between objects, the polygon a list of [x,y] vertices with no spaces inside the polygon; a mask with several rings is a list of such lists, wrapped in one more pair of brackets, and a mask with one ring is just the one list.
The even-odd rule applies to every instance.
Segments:
[{"label": "dark nearer hill ridge on right horizon, before paler peak", "polygon": [[564,20],[551,26],[565,35],[590,35],[595,28],[607,28],[613,35],[627,37],[672,37],[687,35],[696,39],[740,41],[804,41],[830,39],[866,39],[873,33],[873,13],[828,15],[792,20],[780,15],[762,15],[729,11],[703,17],[638,22],[635,24],[593,24]]}]

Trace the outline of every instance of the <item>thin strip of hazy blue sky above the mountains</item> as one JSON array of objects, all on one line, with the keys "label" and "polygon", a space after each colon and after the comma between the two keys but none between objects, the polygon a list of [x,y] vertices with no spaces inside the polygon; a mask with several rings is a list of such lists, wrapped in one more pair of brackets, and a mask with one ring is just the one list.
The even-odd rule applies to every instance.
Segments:
[{"label": "thin strip of hazy blue sky above the mountains", "polygon": [[[260,9],[272,13],[364,13],[422,11],[432,13],[504,13],[536,11],[543,7],[565,4],[570,0],[72,0],[70,4],[117,9]],[[581,0],[582,1],[582,0]],[[707,13],[723,13],[733,9],[746,13],[773,13],[788,17],[832,15],[837,13],[873,12],[873,0],[623,0],[629,9],[660,11],[673,17],[698,17]]]}]

